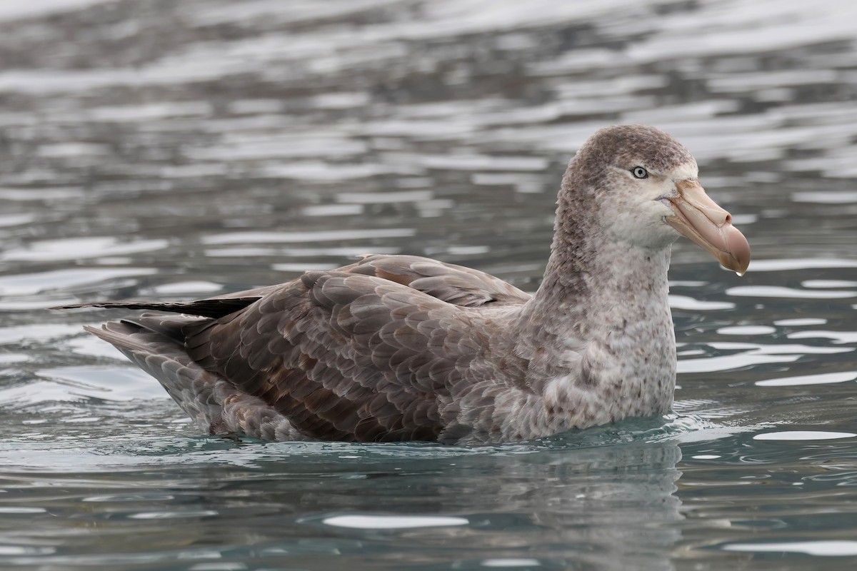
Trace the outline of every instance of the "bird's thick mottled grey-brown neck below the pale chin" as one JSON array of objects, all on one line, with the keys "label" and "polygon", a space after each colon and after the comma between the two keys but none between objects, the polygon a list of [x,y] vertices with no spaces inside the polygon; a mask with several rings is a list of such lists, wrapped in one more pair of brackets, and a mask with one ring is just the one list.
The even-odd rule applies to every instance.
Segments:
[{"label": "bird's thick mottled grey-brown neck below the pale chin", "polygon": [[[633,246],[571,222],[558,217],[542,284],[519,314],[516,351],[530,360],[530,384],[548,390],[549,379],[579,379],[592,365],[599,394],[630,399],[639,389],[645,398],[632,413],[662,412],[675,374],[669,247]],[[588,354],[595,360],[584,366]],[[643,390],[649,384],[656,390]]]}]

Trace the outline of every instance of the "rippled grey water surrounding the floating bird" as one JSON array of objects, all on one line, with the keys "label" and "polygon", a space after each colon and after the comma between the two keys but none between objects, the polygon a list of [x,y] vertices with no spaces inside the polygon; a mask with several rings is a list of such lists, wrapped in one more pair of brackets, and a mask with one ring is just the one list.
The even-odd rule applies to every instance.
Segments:
[{"label": "rippled grey water surrounding the floating bird", "polygon": [[[857,3],[0,3],[0,567],[857,561]],[[646,122],[746,277],[674,247],[674,414],[535,443],[233,442],[81,331],[360,253],[533,290],[565,164]]]}]

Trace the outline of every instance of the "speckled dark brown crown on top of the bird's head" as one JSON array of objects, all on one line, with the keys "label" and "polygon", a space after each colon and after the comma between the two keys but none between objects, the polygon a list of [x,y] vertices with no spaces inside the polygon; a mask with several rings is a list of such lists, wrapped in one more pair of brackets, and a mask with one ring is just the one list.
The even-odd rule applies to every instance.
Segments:
[{"label": "speckled dark brown crown on top of the bird's head", "polygon": [[691,163],[687,149],[670,135],[648,125],[614,125],[596,131],[580,148],[574,167],[590,181],[600,179],[604,167],[632,167],[639,161],[656,170],[670,170]]}]

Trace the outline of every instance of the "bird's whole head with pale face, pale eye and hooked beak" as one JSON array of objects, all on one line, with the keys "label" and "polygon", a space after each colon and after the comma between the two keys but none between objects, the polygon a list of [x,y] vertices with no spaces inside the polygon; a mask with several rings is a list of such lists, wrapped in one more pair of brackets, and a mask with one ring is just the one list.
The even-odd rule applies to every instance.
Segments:
[{"label": "bird's whole head with pale face, pale eye and hooked beak", "polygon": [[[663,248],[684,235],[743,275],[750,245],[732,215],[708,197],[691,153],[644,125],[603,128],[572,159],[573,181],[596,205],[593,223],[616,241]],[[582,197],[581,197],[582,198]]]}]

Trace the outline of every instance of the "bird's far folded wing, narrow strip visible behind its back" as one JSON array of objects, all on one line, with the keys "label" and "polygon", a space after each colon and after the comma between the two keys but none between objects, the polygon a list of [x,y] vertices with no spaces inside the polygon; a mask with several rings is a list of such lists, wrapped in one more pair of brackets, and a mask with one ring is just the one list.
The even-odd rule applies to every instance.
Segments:
[{"label": "bird's far folded wing, narrow strip visible behind its back", "polygon": [[381,277],[456,306],[518,305],[530,300],[530,294],[483,271],[419,256],[373,254],[339,271]]}]

